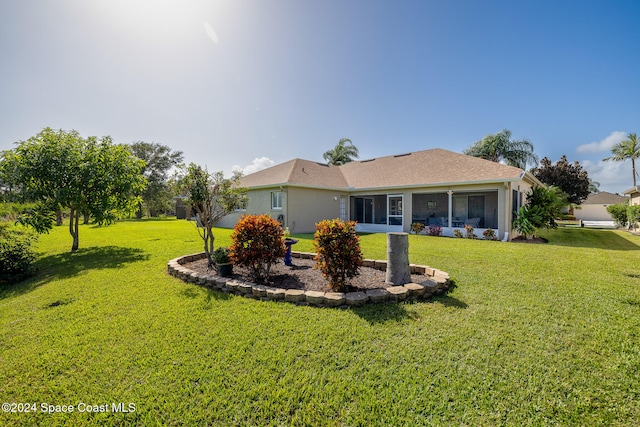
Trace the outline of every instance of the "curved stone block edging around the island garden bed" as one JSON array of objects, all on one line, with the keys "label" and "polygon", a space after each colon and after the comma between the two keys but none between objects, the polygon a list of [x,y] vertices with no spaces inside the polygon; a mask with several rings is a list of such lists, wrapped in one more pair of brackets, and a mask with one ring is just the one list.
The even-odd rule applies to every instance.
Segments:
[{"label": "curved stone block edging around the island garden bed", "polygon": [[[216,274],[200,274],[184,267],[184,264],[203,259],[205,256],[204,252],[200,252],[172,259],[167,264],[168,273],[184,282],[194,283],[225,293],[266,301],[286,301],[318,307],[361,306],[364,304],[398,302],[407,299],[425,299],[447,291],[452,284],[449,274],[444,271],[426,265],[410,264],[412,274],[423,274],[429,278],[423,283],[407,283],[386,289],[368,289],[366,291],[347,293],[282,289],[243,282]],[[316,254],[312,252],[291,252],[291,256],[294,258],[313,259]],[[362,266],[386,271],[387,261],[365,259],[362,261]]]}]

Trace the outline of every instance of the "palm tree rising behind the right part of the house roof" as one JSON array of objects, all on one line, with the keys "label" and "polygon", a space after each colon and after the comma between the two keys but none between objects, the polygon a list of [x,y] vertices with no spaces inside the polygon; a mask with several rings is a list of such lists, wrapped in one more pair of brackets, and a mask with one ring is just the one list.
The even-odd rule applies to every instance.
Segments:
[{"label": "palm tree rising behind the right part of the house roof", "polygon": [[496,163],[504,162],[520,169],[526,169],[527,164],[538,164],[538,156],[533,153],[531,141],[511,140],[511,131],[508,129],[485,136],[464,150],[464,154]]}]

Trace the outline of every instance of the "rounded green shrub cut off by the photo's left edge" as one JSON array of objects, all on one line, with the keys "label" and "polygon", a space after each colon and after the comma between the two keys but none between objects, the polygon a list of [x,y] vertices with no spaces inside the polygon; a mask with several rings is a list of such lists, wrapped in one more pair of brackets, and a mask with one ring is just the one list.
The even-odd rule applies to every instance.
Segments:
[{"label": "rounded green shrub cut off by the photo's left edge", "polygon": [[31,231],[0,224],[0,285],[15,283],[34,273],[36,254]]}]

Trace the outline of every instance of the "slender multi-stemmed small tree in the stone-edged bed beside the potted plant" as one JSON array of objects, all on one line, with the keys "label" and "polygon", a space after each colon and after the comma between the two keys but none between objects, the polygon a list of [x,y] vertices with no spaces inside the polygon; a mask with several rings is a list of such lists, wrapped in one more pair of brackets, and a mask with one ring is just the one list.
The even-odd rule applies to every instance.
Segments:
[{"label": "slender multi-stemmed small tree in the stone-edged bed beside the potted plant", "polygon": [[215,267],[211,257],[215,242],[213,227],[246,200],[246,189],[240,187],[240,177],[237,172],[230,179],[222,172],[210,174],[191,163],[182,180],[187,201],[196,212],[196,229],[204,242],[209,269]]}]

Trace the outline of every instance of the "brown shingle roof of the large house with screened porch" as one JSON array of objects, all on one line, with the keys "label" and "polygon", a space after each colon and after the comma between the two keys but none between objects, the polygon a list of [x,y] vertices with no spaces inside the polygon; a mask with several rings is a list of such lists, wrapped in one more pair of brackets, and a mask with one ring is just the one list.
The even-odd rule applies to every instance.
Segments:
[{"label": "brown shingle roof of the large house with screened porch", "polygon": [[391,188],[519,179],[512,166],[440,148],[330,166],[293,159],[242,178],[245,187],[305,185],[330,188]]}]

